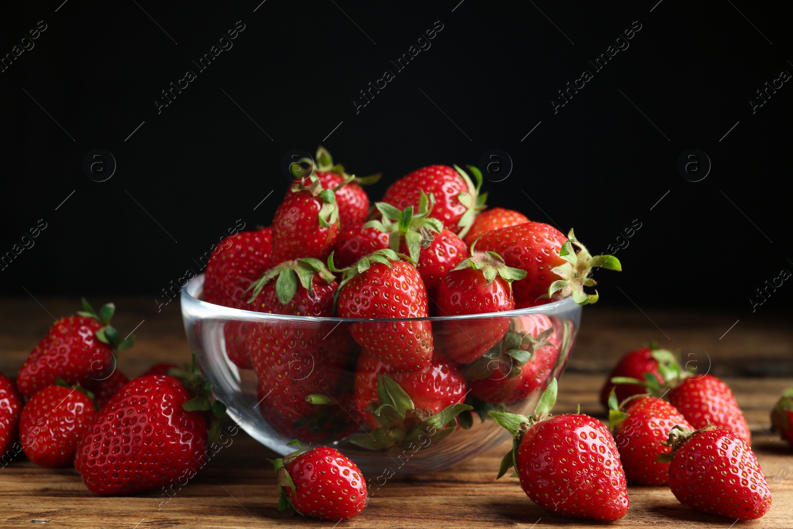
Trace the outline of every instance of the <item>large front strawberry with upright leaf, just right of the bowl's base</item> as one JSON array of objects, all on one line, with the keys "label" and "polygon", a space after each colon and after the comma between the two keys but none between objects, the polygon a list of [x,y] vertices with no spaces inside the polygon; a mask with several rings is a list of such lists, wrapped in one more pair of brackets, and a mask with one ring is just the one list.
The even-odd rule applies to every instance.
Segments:
[{"label": "large front strawberry with upright leaf, just right of the bowl's base", "polygon": [[628,512],[628,493],[611,432],[587,415],[550,416],[556,393],[554,378],[531,417],[490,412],[515,437],[498,477],[515,466],[523,492],[561,516],[622,518]]}]

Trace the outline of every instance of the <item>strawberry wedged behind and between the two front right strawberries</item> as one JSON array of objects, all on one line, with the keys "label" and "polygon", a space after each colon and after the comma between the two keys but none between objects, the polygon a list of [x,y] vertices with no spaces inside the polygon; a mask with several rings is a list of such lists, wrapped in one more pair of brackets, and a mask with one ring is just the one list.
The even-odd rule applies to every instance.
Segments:
[{"label": "strawberry wedged behind and between the two front right strawberries", "polygon": [[623,403],[623,409],[612,397],[610,406],[609,426],[628,480],[639,485],[666,485],[669,463],[659,461],[658,456],[671,449],[661,443],[675,425],[691,428],[691,424],[672,404],[657,397],[634,397]]}]

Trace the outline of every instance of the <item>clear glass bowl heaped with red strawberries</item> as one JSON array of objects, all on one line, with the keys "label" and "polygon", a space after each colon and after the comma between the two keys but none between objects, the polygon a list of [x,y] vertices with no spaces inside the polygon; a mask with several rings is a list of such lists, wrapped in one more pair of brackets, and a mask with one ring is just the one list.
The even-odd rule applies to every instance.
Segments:
[{"label": "clear glass bowl heaped with red strawberries", "polygon": [[481,173],[430,166],[370,208],[320,148],[271,226],[221,241],[182,289],[198,366],[228,414],[278,454],[293,439],[365,473],[439,470],[508,439],[564,370],[597,300],[573,231],[485,209]]}]

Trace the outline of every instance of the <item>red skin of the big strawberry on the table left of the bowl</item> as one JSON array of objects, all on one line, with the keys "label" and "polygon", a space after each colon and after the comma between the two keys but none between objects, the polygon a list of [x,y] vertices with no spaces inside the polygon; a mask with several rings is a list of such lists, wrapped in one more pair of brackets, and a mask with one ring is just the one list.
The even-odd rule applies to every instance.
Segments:
[{"label": "red skin of the big strawberry on the table left of the bowl", "polygon": [[75,468],[92,492],[132,494],[190,479],[206,460],[209,426],[182,405],[193,396],[167,375],[136,378],[82,438]]}]

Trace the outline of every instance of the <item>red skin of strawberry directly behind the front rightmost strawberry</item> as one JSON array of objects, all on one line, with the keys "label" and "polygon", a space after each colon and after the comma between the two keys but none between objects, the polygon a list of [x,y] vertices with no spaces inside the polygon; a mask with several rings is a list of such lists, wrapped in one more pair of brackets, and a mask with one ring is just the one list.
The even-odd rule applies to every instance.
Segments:
[{"label": "red skin of strawberry directly behind the front rightmost strawberry", "polygon": [[713,375],[695,375],[669,390],[667,399],[695,428],[706,427],[708,421],[717,427],[734,431],[747,444],[752,432],[730,388]]}]

